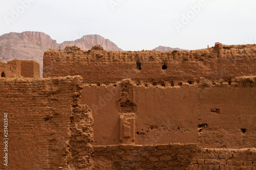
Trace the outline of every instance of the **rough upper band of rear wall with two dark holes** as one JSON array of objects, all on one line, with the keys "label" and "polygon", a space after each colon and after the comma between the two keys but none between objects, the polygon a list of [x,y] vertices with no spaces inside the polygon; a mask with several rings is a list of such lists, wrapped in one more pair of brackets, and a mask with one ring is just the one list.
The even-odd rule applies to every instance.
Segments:
[{"label": "rough upper band of rear wall with two dark holes", "polygon": [[44,54],[43,77],[75,76],[84,82],[216,80],[255,76],[256,45],[222,45],[195,51],[108,52],[78,47]]}]

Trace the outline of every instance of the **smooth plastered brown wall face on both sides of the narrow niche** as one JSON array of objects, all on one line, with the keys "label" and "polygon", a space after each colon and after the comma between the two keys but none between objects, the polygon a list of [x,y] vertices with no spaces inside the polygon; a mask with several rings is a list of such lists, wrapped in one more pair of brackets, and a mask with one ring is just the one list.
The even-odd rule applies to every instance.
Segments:
[{"label": "smooth plastered brown wall face on both sides of the narrow niche", "polygon": [[[134,144],[199,143],[202,148],[256,148],[256,79],[230,82],[131,82],[136,105]],[[87,84],[81,103],[92,108],[94,144],[122,143],[118,101],[122,82]],[[245,132],[243,132],[245,130]]]}]

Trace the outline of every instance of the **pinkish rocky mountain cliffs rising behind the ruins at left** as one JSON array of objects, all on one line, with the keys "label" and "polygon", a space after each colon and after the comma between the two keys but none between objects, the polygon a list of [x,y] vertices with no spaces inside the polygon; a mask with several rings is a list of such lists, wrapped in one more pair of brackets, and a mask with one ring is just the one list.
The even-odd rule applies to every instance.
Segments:
[{"label": "pinkish rocky mountain cliffs rising behind the ruins at left", "polygon": [[42,76],[42,57],[50,48],[63,50],[67,45],[77,45],[82,50],[89,50],[100,45],[107,51],[121,51],[118,46],[100,35],[86,35],[75,41],[57,43],[49,35],[41,32],[8,33],[0,36],[0,60],[7,62],[13,59],[34,60],[40,64]]}]

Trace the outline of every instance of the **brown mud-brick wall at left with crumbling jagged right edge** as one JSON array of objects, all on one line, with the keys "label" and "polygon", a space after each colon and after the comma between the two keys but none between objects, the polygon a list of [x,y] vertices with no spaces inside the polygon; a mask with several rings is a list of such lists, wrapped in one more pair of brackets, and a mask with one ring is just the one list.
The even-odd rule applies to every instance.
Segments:
[{"label": "brown mud-brick wall at left with crumbling jagged right edge", "polygon": [[0,135],[5,112],[9,129],[8,167],[0,169],[90,168],[93,118],[80,105],[80,76],[0,78],[0,87]]}]

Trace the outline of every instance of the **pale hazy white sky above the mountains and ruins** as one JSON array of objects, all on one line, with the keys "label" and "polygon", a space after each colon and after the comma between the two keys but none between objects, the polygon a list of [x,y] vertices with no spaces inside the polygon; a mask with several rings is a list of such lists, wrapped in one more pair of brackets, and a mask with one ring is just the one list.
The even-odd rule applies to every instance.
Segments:
[{"label": "pale hazy white sky above the mountains and ruins", "polygon": [[39,31],[58,43],[99,34],[126,51],[256,42],[255,0],[11,0],[0,35]]}]

